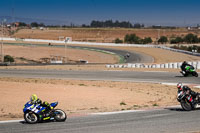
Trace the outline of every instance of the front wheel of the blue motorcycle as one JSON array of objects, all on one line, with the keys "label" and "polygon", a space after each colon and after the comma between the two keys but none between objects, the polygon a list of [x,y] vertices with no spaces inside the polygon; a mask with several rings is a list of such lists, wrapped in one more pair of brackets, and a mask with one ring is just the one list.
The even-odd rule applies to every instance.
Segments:
[{"label": "front wheel of the blue motorcycle", "polygon": [[24,119],[29,124],[35,124],[38,122],[38,116],[33,112],[27,112],[24,114]]}]

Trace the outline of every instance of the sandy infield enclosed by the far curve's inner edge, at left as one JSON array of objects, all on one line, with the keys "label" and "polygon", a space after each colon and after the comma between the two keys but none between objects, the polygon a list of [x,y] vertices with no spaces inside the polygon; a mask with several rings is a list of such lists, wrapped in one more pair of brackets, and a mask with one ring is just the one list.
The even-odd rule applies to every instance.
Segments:
[{"label": "sandy infield enclosed by the far curve's inner edge, at left", "polygon": [[4,54],[11,55],[16,59],[16,63],[26,63],[19,60],[19,58],[25,58],[27,60],[43,61],[42,59],[52,59],[56,56],[67,58],[67,62],[75,62],[79,60],[86,60],[89,63],[116,63],[119,59],[117,56],[110,54],[104,54],[101,52],[79,50],[67,48],[55,48],[55,47],[36,47],[36,46],[12,46],[4,45]]}]

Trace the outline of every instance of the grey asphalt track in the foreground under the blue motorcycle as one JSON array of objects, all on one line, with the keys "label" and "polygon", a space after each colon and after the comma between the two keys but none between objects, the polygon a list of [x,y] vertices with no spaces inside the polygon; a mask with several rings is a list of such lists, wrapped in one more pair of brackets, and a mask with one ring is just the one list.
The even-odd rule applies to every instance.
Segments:
[{"label": "grey asphalt track in the foreground under the blue motorcycle", "polygon": [[188,133],[200,131],[200,110],[180,107],[72,117],[65,122],[0,123],[1,133]]}]

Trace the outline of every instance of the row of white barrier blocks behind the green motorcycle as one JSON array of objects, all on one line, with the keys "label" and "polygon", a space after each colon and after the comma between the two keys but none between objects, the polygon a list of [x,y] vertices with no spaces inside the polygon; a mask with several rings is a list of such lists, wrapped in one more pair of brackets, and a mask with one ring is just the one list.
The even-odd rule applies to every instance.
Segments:
[{"label": "row of white barrier blocks behind the green motorcycle", "polygon": [[[190,65],[194,66],[195,69],[200,69],[200,61],[188,62]],[[107,68],[169,68],[169,69],[180,69],[182,62],[174,62],[174,63],[163,63],[163,64],[114,64],[114,65],[106,65]]]}]

